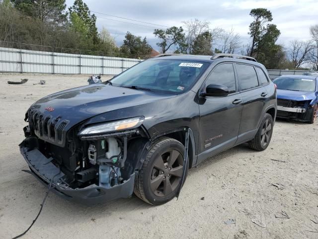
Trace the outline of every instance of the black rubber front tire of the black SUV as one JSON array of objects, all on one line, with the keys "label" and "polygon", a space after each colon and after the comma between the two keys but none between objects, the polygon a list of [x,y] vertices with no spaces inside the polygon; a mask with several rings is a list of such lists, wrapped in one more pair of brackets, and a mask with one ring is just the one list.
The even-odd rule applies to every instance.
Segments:
[{"label": "black rubber front tire of the black SUV", "polygon": [[[160,161],[159,160],[160,158],[163,159],[162,160],[163,165],[166,165],[166,164],[169,165],[170,157],[171,159],[173,158],[170,152],[173,152],[173,155],[176,155],[178,153],[179,154],[177,158],[175,159],[174,163],[172,163],[173,166],[170,167],[171,171],[169,172],[171,174],[167,174],[166,170],[169,170],[169,167],[166,168],[166,166],[164,166],[165,171],[163,172],[163,170],[160,170],[157,168],[157,165],[158,165],[158,161]],[[165,155],[168,155],[166,158],[166,162],[164,160]],[[173,138],[167,138],[167,137],[162,137],[162,138],[159,138],[157,141],[155,141],[151,145],[146,155],[145,161],[143,163],[141,170],[139,171],[138,176],[135,178],[135,186],[134,186],[135,195],[139,197],[140,199],[142,199],[143,201],[145,201],[146,203],[149,203],[151,205],[161,205],[172,200],[176,196],[177,192],[180,190],[181,181],[182,181],[182,176],[181,177],[174,176],[173,173],[178,172],[178,175],[180,175],[181,165],[179,166],[176,166],[176,165],[180,164],[182,159],[182,170],[183,170],[183,158],[184,158],[184,146],[179,141]],[[187,163],[186,165],[185,178],[188,172],[188,165],[189,163]],[[177,169],[177,171],[173,171],[174,169]],[[152,186],[154,185],[153,182],[156,181],[157,178],[162,176],[161,173],[164,176],[164,179],[162,179],[158,188],[154,191],[154,188],[156,186],[154,186],[152,189]],[[178,179],[179,181],[176,181]],[[172,181],[172,183],[170,180]],[[168,181],[171,186],[171,190],[172,190],[171,192],[170,190],[164,190],[166,188],[165,185],[168,184],[166,182]],[[162,189],[162,192],[160,191],[161,189]]]}]

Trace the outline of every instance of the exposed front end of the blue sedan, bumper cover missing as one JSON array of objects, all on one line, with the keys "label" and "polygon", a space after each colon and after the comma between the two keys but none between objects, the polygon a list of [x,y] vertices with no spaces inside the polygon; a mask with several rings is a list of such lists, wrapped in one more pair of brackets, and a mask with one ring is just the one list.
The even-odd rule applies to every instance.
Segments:
[{"label": "exposed front end of the blue sedan, bumper cover missing", "polygon": [[277,118],[310,121],[314,111],[312,101],[277,99]]}]

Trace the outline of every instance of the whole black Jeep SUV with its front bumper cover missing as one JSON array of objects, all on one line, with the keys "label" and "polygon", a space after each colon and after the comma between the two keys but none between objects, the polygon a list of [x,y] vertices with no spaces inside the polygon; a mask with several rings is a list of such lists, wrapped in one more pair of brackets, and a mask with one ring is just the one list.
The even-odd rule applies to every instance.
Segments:
[{"label": "whole black Jeep SUV with its front bumper cover missing", "polygon": [[188,168],[247,142],[265,150],[276,89],[254,58],[162,54],[27,111],[20,151],[44,185],[94,204],[178,197]]}]

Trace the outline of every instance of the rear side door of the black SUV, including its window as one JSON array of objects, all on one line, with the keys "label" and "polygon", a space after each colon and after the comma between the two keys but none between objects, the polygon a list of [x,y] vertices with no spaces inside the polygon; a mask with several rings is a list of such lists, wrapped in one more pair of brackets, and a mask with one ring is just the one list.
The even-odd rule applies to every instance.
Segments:
[{"label": "rear side door of the black SUV, including its window", "polygon": [[268,93],[258,80],[253,65],[236,63],[235,67],[239,79],[239,91],[244,102],[237,142],[240,143],[254,137],[262,119]]}]

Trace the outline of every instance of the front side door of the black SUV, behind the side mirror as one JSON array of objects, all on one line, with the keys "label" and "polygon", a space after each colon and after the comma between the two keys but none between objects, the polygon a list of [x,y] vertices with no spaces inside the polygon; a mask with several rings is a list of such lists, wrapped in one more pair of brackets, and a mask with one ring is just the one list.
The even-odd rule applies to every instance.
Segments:
[{"label": "front side door of the black SUV, behind the side mirror", "polygon": [[235,144],[243,109],[233,63],[221,63],[214,67],[202,90],[205,90],[204,87],[210,84],[227,86],[229,95],[199,99],[200,143],[198,163],[208,156]]}]

